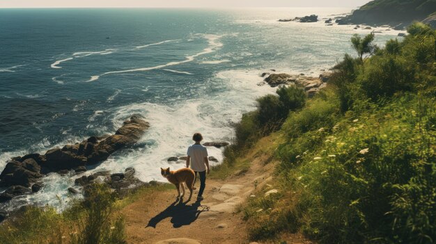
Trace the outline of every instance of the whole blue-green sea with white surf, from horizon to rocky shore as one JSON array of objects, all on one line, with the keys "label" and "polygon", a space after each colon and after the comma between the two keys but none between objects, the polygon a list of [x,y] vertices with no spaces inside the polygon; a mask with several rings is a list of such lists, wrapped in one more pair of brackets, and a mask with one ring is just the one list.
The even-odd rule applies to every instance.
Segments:
[{"label": "whole blue-green sea with white surf, from horizon to rocky shore", "polygon": [[[185,154],[190,136],[231,140],[232,122],[274,92],[259,74],[318,75],[352,53],[354,26],[279,23],[345,9],[1,9],[0,170],[11,156],[114,133],[141,113],[150,130],[133,149],[90,170],[133,166],[160,179],[166,158]],[[396,36],[377,34],[377,43]],[[210,154],[221,161],[221,151]],[[180,168],[182,163],[171,163]],[[50,174],[24,201],[56,204],[74,177]]]}]

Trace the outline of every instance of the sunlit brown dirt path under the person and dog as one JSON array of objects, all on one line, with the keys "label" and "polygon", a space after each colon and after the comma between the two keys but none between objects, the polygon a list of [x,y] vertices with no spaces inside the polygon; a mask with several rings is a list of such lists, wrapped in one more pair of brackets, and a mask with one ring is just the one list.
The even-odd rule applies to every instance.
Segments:
[{"label": "sunlit brown dirt path under the person and dog", "polygon": [[[150,193],[122,210],[128,243],[249,243],[246,223],[235,209],[252,194],[255,181],[258,187],[267,184],[271,171],[272,165],[257,158],[242,175],[207,179],[201,202],[196,202],[198,190],[187,203],[174,202],[176,189]],[[300,243],[292,240],[288,243]]]}]

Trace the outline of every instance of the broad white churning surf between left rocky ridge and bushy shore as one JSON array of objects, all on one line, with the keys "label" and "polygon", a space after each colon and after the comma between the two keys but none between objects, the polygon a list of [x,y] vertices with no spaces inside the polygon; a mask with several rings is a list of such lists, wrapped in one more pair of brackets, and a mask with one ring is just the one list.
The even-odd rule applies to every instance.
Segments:
[{"label": "broad white churning surf between left rocky ridge and bushy shore", "polygon": [[[141,145],[128,154],[110,157],[91,172],[111,170],[123,172],[127,167],[137,170],[137,177],[143,181],[158,180],[159,167],[178,169],[185,162],[168,162],[170,156],[182,156],[192,143],[192,134],[201,131],[204,141],[231,141],[234,131],[233,122],[238,122],[242,113],[256,108],[257,97],[274,92],[276,88],[259,87],[256,83],[263,80],[259,70],[229,70],[218,72],[210,79],[212,86],[221,86],[223,92],[199,99],[189,99],[183,104],[152,104],[148,102],[130,104],[114,108],[114,128],[118,128],[126,117],[140,113],[150,122],[150,129],[141,138]],[[221,149],[208,147],[210,156],[222,161]],[[212,165],[217,163],[211,162]]]}]

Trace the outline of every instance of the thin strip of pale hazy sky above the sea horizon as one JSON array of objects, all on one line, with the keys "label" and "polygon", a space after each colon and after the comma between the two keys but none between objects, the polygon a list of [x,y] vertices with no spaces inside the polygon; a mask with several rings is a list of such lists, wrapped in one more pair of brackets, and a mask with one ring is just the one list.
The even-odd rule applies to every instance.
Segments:
[{"label": "thin strip of pale hazy sky above the sea horizon", "polygon": [[352,7],[369,0],[0,0],[0,8]]}]

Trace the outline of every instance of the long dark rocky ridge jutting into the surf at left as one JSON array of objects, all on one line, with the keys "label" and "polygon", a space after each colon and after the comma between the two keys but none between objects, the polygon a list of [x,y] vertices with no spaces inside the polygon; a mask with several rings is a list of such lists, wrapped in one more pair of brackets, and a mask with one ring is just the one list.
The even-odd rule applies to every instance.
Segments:
[{"label": "long dark rocky ridge jutting into the surf at left", "polygon": [[141,116],[132,115],[114,135],[91,136],[81,143],[49,149],[44,155],[34,153],[11,158],[0,174],[0,186],[9,187],[0,196],[0,202],[37,192],[42,185],[36,182],[48,172],[85,172],[86,165],[104,161],[118,149],[137,143],[148,127],[150,125]]}]

